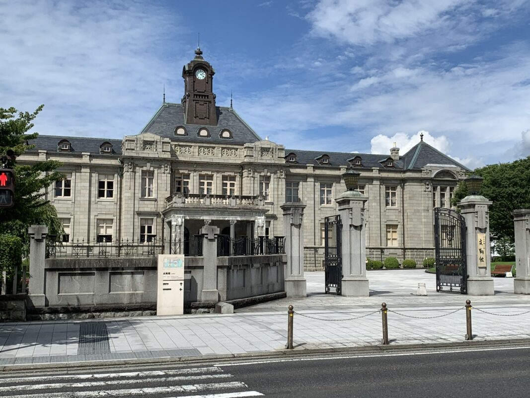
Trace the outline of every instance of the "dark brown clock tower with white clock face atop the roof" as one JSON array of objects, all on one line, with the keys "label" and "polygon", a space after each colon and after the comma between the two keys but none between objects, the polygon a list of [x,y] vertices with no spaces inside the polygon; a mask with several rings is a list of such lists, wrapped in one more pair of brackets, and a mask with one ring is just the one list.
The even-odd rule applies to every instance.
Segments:
[{"label": "dark brown clock tower with white clock face atop the roof", "polygon": [[213,92],[214,68],[202,58],[197,47],[195,58],[184,65],[184,97],[182,105],[186,124],[217,125],[215,94]]}]

